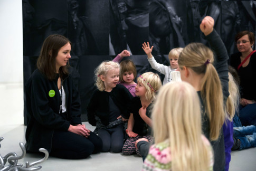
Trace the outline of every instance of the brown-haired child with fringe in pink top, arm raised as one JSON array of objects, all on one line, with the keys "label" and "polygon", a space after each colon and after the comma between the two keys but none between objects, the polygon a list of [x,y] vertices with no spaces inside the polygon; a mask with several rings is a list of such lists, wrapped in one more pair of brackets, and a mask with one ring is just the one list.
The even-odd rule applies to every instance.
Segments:
[{"label": "brown-haired child with fringe in pink top, arm raised", "polygon": [[[122,51],[113,59],[113,62],[120,62],[125,56],[130,56],[130,52],[127,50]],[[137,75],[136,66],[131,60],[125,60],[120,63],[120,81],[118,84],[124,85],[131,93],[133,97],[135,94],[135,87],[137,83],[134,82],[134,78]]]}]

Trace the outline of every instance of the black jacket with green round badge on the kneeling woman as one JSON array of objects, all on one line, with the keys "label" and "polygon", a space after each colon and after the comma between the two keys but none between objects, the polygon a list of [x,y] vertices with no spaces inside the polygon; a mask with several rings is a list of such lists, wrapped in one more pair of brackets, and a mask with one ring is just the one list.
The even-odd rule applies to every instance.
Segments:
[{"label": "black jacket with green round badge on the kneeling woman", "polygon": [[[39,148],[45,148],[50,153],[55,129],[68,131],[70,124],[81,124],[80,97],[69,75],[63,78],[67,116],[59,115],[58,78],[59,74],[56,74],[56,78],[50,81],[36,69],[25,85],[27,115],[25,137],[28,151],[38,152]],[[55,91],[53,97],[49,95],[51,90]]]}]

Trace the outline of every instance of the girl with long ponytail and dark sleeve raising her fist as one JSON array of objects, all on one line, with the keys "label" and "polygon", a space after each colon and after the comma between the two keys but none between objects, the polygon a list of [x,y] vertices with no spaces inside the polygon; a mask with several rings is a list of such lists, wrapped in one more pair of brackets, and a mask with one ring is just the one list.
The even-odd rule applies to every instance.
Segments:
[{"label": "girl with long ponytail and dark sleeve raising her fist", "polygon": [[181,79],[190,83],[200,98],[202,130],[213,146],[214,170],[224,170],[225,148],[222,126],[225,119],[226,99],[229,96],[227,65],[229,57],[213,25],[214,20],[210,16],[206,16],[200,25],[212,50],[202,43],[188,44],[179,55],[178,65]]}]

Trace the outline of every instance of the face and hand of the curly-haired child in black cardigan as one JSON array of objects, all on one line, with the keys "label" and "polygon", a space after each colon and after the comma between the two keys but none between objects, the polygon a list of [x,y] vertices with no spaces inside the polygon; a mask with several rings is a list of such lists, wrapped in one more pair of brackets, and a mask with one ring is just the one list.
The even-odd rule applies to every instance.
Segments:
[{"label": "face and hand of the curly-haired child in black cardigan", "polygon": [[[100,75],[100,79],[104,82],[104,91],[111,92],[119,81],[119,68],[107,71],[106,75]],[[119,118],[122,118],[121,115],[117,119]],[[122,120],[127,121],[128,119],[122,118]]]}]

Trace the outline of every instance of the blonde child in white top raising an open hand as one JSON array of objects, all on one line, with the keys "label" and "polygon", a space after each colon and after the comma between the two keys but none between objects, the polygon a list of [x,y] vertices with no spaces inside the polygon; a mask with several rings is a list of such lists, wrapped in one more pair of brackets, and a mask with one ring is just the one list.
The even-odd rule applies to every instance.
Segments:
[{"label": "blonde child in white top raising an open hand", "polygon": [[167,82],[173,81],[171,72],[175,71],[178,68],[178,56],[182,52],[183,48],[174,48],[172,49],[169,54],[168,58],[170,60],[170,65],[166,66],[160,63],[157,63],[154,56],[151,54],[154,46],[149,46],[149,43],[147,44],[144,42],[142,49],[148,56],[148,62],[150,63],[151,67],[158,72],[165,75],[163,84],[166,84]]}]

